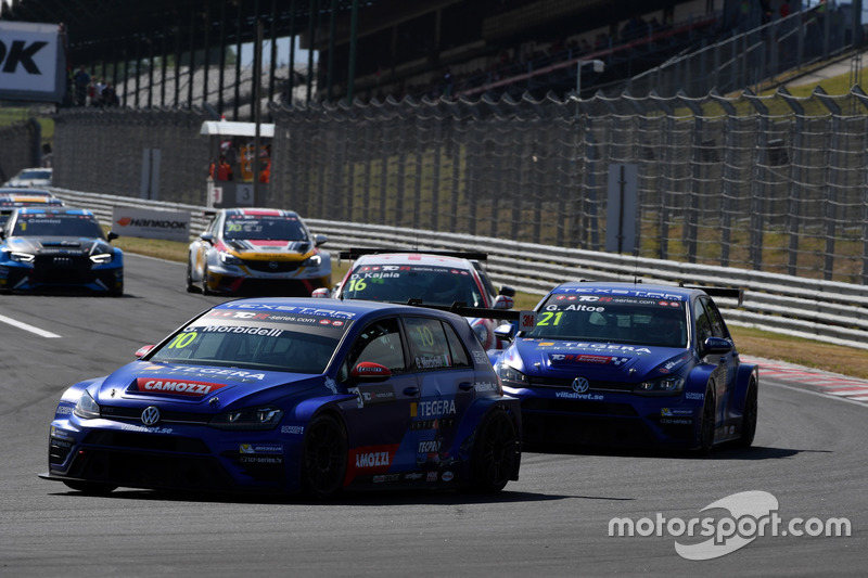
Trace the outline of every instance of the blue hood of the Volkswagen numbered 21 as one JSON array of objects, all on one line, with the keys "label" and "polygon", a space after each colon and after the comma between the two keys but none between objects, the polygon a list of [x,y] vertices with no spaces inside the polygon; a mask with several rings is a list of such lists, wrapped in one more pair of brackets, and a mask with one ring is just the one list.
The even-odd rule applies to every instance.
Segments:
[{"label": "blue hood of the Volkswagen numbered 21", "polygon": [[519,338],[500,358],[528,376],[639,382],[677,372],[691,358],[684,348]]}]

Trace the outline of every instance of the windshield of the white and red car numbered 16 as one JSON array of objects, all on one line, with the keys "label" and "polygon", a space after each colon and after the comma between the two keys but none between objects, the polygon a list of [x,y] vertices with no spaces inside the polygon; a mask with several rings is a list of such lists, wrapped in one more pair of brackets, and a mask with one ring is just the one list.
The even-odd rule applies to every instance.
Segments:
[{"label": "windshield of the white and red car numbered 16", "polygon": [[424,265],[361,265],[342,290],[344,299],[407,303],[422,299],[426,305],[485,307],[482,293],[469,271]]}]

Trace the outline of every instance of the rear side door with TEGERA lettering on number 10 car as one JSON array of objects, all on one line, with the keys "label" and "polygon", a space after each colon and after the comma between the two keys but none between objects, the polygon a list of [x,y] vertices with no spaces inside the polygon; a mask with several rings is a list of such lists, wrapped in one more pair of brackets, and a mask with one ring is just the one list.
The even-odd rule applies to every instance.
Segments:
[{"label": "rear side door with TEGERA lettering on number 10 car", "polygon": [[404,318],[410,348],[410,365],[419,380],[421,396],[411,403],[410,435],[416,467],[429,481],[449,481],[455,436],[461,416],[475,398],[475,371],[455,329],[430,317]]}]

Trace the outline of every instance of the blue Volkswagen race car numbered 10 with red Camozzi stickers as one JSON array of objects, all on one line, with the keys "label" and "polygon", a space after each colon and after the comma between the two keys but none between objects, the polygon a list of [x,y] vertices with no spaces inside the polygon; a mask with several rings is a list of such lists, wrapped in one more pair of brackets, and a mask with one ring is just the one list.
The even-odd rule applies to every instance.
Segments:
[{"label": "blue Volkswagen race car numbered 10 with red Camozzi stickers", "polygon": [[519,402],[468,322],[412,306],[228,301],[111,375],[69,387],[49,472],[76,490],[500,491]]}]

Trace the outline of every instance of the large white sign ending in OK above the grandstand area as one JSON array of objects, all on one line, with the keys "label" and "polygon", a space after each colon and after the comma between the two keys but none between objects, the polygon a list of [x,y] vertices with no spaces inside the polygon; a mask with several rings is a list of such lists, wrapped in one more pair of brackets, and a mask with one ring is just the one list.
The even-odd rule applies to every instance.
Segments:
[{"label": "large white sign ending in OK above the grandstand area", "polygon": [[65,73],[56,24],[0,21],[0,100],[60,103]]}]

